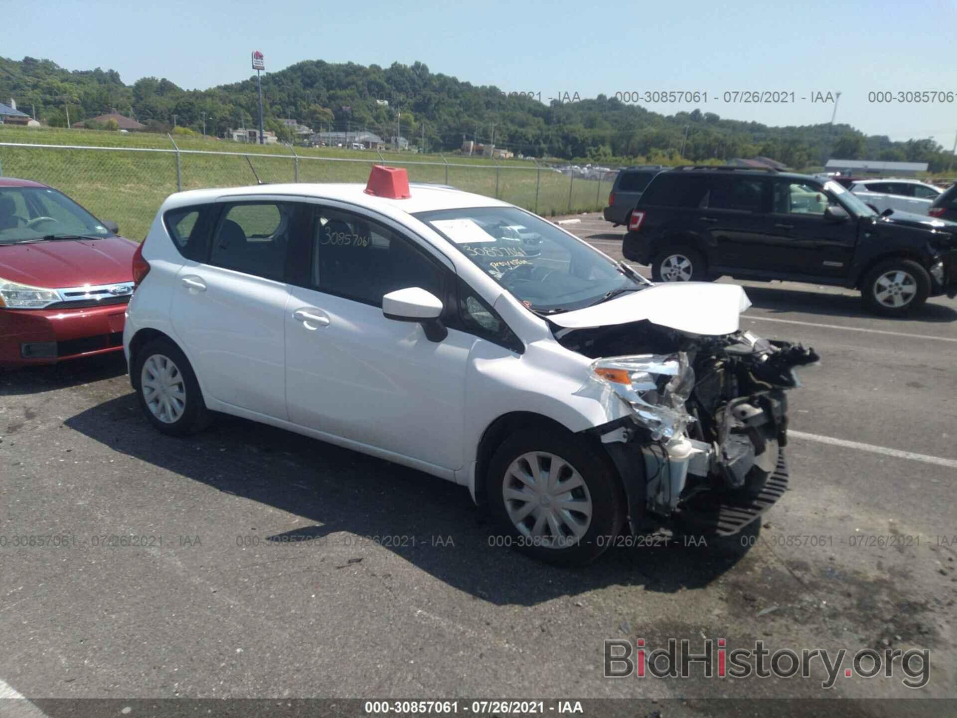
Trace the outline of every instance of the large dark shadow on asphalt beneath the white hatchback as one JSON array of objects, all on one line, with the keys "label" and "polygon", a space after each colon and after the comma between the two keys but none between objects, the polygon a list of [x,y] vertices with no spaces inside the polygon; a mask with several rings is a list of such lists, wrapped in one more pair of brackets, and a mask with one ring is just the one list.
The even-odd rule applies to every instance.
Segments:
[{"label": "large dark shadow on asphalt beneath the white hatchback", "polygon": [[495,604],[531,606],[611,585],[666,594],[701,589],[754,544],[741,536],[703,539],[705,545],[701,537],[662,535],[641,547],[614,547],[586,567],[556,568],[501,546],[501,532],[465,487],[317,439],[232,416],[220,416],[200,435],[171,438],[146,421],[133,393],[65,423],[182,481],[203,482],[311,524],[268,541],[315,540],[343,531],[397,537],[383,546]]}]

